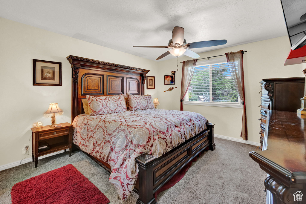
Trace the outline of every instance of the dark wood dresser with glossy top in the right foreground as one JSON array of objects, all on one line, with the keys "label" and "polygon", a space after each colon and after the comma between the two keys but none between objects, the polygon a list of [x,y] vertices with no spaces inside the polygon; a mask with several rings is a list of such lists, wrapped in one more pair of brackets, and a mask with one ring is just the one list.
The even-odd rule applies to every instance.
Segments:
[{"label": "dark wood dresser with glossy top in the right foreground", "polygon": [[267,111],[263,149],[249,155],[268,174],[267,203],[306,203],[306,115]]}]

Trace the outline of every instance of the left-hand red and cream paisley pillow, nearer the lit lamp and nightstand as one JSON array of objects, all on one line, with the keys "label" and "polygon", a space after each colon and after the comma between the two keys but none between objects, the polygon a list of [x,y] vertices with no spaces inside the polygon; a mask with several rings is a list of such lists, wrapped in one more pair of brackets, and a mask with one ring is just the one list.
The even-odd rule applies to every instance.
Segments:
[{"label": "left-hand red and cream paisley pillow, nearer the lit lamp and nightstand", "polygon": [[123,94],[114,96],[90,96],[86,95],[90,115],[104,115],[126,111],[126,103]]}]

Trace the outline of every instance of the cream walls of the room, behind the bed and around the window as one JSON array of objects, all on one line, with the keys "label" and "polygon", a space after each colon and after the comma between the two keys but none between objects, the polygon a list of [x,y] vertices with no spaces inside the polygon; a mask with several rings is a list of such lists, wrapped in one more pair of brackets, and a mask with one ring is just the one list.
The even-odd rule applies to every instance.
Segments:
[{"label": "cream walls of the room, behind the bed and around the window", "polygon": [[[50,124],[50,118],[43,117],[50,102],[58,102],[65,112],[57,117],[57,123],[71,121],[71,67],[66,59],[68,55],[151,70],[148,75],[155,76],[156,88],[146,90],[146,94],[159,98],[159,109],[178,110],[180,107],[181,64],[176,72],[175,86],[178,88],[163,92],[172,87],[163,85],[163,76],[177,70],[175,58],[151,61],[3,18],[0,18],[0,28],[0,166],[25,157],[21,149],[24,144],[31,144],[28,139],[32,124],[37,121]],[[259,82],[263,78],[303,76],[301,71],[305,65],[283,66],[290,49],[286,36],[200,53],[200,58],[241,49],[248,51],[244,54],[244,77],[249,141],[259,142]],[[32,59],[62,62],[62,86],[33,86]],[[187,59],[190,58],[180,57],[179,61]],[[201,113],[216,123],[215,134],[240,138],[242,109],[185,105],[184,110]]]}]

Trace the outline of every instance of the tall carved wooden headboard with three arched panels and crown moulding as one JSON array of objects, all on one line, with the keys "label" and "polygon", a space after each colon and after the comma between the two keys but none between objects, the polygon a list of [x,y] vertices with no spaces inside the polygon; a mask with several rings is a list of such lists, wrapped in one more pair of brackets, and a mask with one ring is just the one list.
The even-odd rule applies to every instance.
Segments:
[{"label": "tall carved wooden headboard with three arched panels and crown moulding", "polygon": [[86,95],[144,95],[149,70],[69,55],[72,67],[71,121],[84,113],[82,99]]}]

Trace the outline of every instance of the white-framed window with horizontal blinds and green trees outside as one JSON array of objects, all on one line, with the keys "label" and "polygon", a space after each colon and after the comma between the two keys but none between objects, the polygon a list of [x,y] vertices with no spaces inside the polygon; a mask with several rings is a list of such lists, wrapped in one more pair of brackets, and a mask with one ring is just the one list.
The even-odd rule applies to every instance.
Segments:
[{"label": "white-framed window with horizontal blinds and green trees outside", "polygon": [[226,58],[197,63],[184,104],[242,108]]}]

